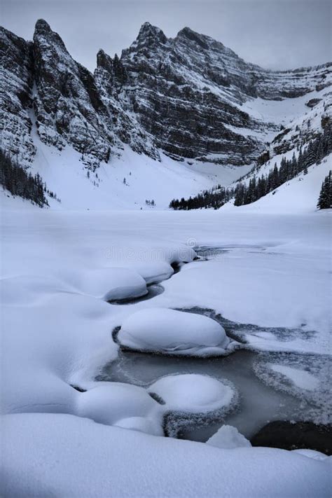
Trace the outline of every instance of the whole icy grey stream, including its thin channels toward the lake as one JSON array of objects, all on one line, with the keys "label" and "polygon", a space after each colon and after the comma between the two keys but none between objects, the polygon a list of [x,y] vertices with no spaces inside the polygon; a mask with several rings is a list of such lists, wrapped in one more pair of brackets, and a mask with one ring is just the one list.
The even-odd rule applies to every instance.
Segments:
[{"label": "whole icy grey stream, including its thin channels toward the lake", "polygon": [[[200,261],[202,259],[221,258],[223,253],[238,247],[200,247],[195,248]],[[260,247],[251,247],[253,251],[261,251]],[[136,303],[139,300],[151,299],[162,292],[162,286],[151,286],[148,295],[143,298],[127,300],[126,303]],[[242,342],[245,333],[273,333],[283,341],[291,338],[300,330],[285,328],[261,328],[250,324],[237,324],[216,315],[213,310],[200,307],[183,311],[206,314],[216,319],[225,328],[227,335]],[[310,333],[307,333],[309,336]],[[116,338],[116,333],[113,334]],[[248,346],[244,345],[244,348]],[[148,387],[164,375],[195,373],[209,375],[221,381],[230,381],[239,394],[239,402],[222,420],[206,416],[204,420],[192,420],[193,424],[179,431],[179,437],[194,441],[207,441],[224,423],[237,427],[241,434],[251,438],[268,422],[274,420],[312,420],[321,422],[321,414],[328,413],[323,396],[314,397],[308,392],[294,389],[285,378],[275,375],[269,368],[270,364],[291,365],[306,371],[313,371],[324,382],[324,375],[328,373],[328,359],[318,359],[313,355],[298,355],[287,353],[258,353],[252,350],[237,350],[228,357],[192,358],[192,357],[165,357],[127,350],[120,351],[116,361],[104,367],[98,380],[126,382],[132,385]],[[317,371],[317,365],[324,368]],[[316,370],[315,370],[316,368]],[[322,380],[323,378],[323,380]],[[324,389],[323,389],[324,390]],[[319,391],[319,389],[318,389]],[[309,393],[310,394],[310,393]],[[317,390],[316,390],[317,394]],[[323,401],[322,401],[323,400]],[[327,403],[328,404],[328,403]],[[176,416],[173,414],[172,416]],[[320,418],[319,418],[320,417]],[[181,425],[182,422],[182,425]],[[179,427],[183,427],[184,420],[180,420]]]}]

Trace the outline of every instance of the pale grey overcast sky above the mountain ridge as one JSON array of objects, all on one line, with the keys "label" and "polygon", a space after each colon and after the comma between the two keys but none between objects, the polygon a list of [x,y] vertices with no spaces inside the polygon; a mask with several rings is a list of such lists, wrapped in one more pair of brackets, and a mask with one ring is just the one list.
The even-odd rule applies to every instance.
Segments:
[{"label": "pale grey overcast sky above the mountain ridge", "polygon": [[330,0],[0,0],[1,25],[25,39],[39,18],[91,71],[99,48],[120,55],[145,21],[172,37],[191,27],[271,69],[332,59]]}]

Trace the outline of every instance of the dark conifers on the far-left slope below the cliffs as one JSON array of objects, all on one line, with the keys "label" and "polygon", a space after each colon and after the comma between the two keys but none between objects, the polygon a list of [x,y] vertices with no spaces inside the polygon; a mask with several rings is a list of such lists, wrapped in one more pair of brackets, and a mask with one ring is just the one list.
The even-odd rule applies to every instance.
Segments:
[{"label": "dark conifers on the far-left slope below the cliffs", "polygon": [[46,195],[60,202],[57,195],[48,190],[40,174],[32,175],[18,165],[8,153],[0,149],[0,184],[12,195],[27,199],[39,207],[48,206]]}]

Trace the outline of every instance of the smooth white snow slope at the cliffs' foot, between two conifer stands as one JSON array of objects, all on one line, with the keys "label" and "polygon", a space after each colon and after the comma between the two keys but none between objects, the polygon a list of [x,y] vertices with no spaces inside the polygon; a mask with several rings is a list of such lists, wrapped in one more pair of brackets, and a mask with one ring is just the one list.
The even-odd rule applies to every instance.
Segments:
[{"label": "smooth white snow slope at the cliffs' foot, between two conifer stands", "polygon": [[201,162],[189,165],[163,154],[161,161],[155,161],[125,146],[119,158],[111,164],[101,163],[94,173],[83,166],[80,154],[71,146],[60,153],[36,136],[35,143],[32,171],[39,172],[62,201],[50,200],[53,209],[153,209],[146,207],[146,200],[154,200],[155,209],[166,209],[174,194],[188,197],[218,183],[227,186],[250,168]]}]

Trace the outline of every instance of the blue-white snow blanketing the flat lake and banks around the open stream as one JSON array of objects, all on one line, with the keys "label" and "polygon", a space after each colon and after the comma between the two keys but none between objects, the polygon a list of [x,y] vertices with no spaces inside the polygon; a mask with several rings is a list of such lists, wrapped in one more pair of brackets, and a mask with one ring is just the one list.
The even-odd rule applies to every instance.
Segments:
[{"label": "blue-white snow blanketing the flat lake and banks around the open stream", "polygon": [[[289,341],[250,331],[246,337],[258,350],[326,353],[328,223],[328,213],[6,209],[1,216],[4,496],[117,498],[125,489],[135,498],[202,497],[207,490],[209,496],[222,492],[238,498],[245,484],[252,497],[328,497],[325,460],[272,448],[230,452],[142,434],[162,434],[160,420],[171,407],[202,413],[226,406],[223,383],[159,379],[154,383],[160,382],[159,388],[148,391],[165,396],[162,405],[146,389],[95,381],[118,355],[113,328],[144,310],[153,317],[160,308],[212,307],[243,324],[296,326],[303,335]],[[193,240],[228,246],[229,252],[217,261],[193,261]],[[143,291],[146,280],[172,275],[170,265],[181,261],[188,264],[148,303],[104,301],[119,287],[126,295]],[[170,389],[168,382],[179,383]],[[198,389],[201,382],[204,389]]]}]

